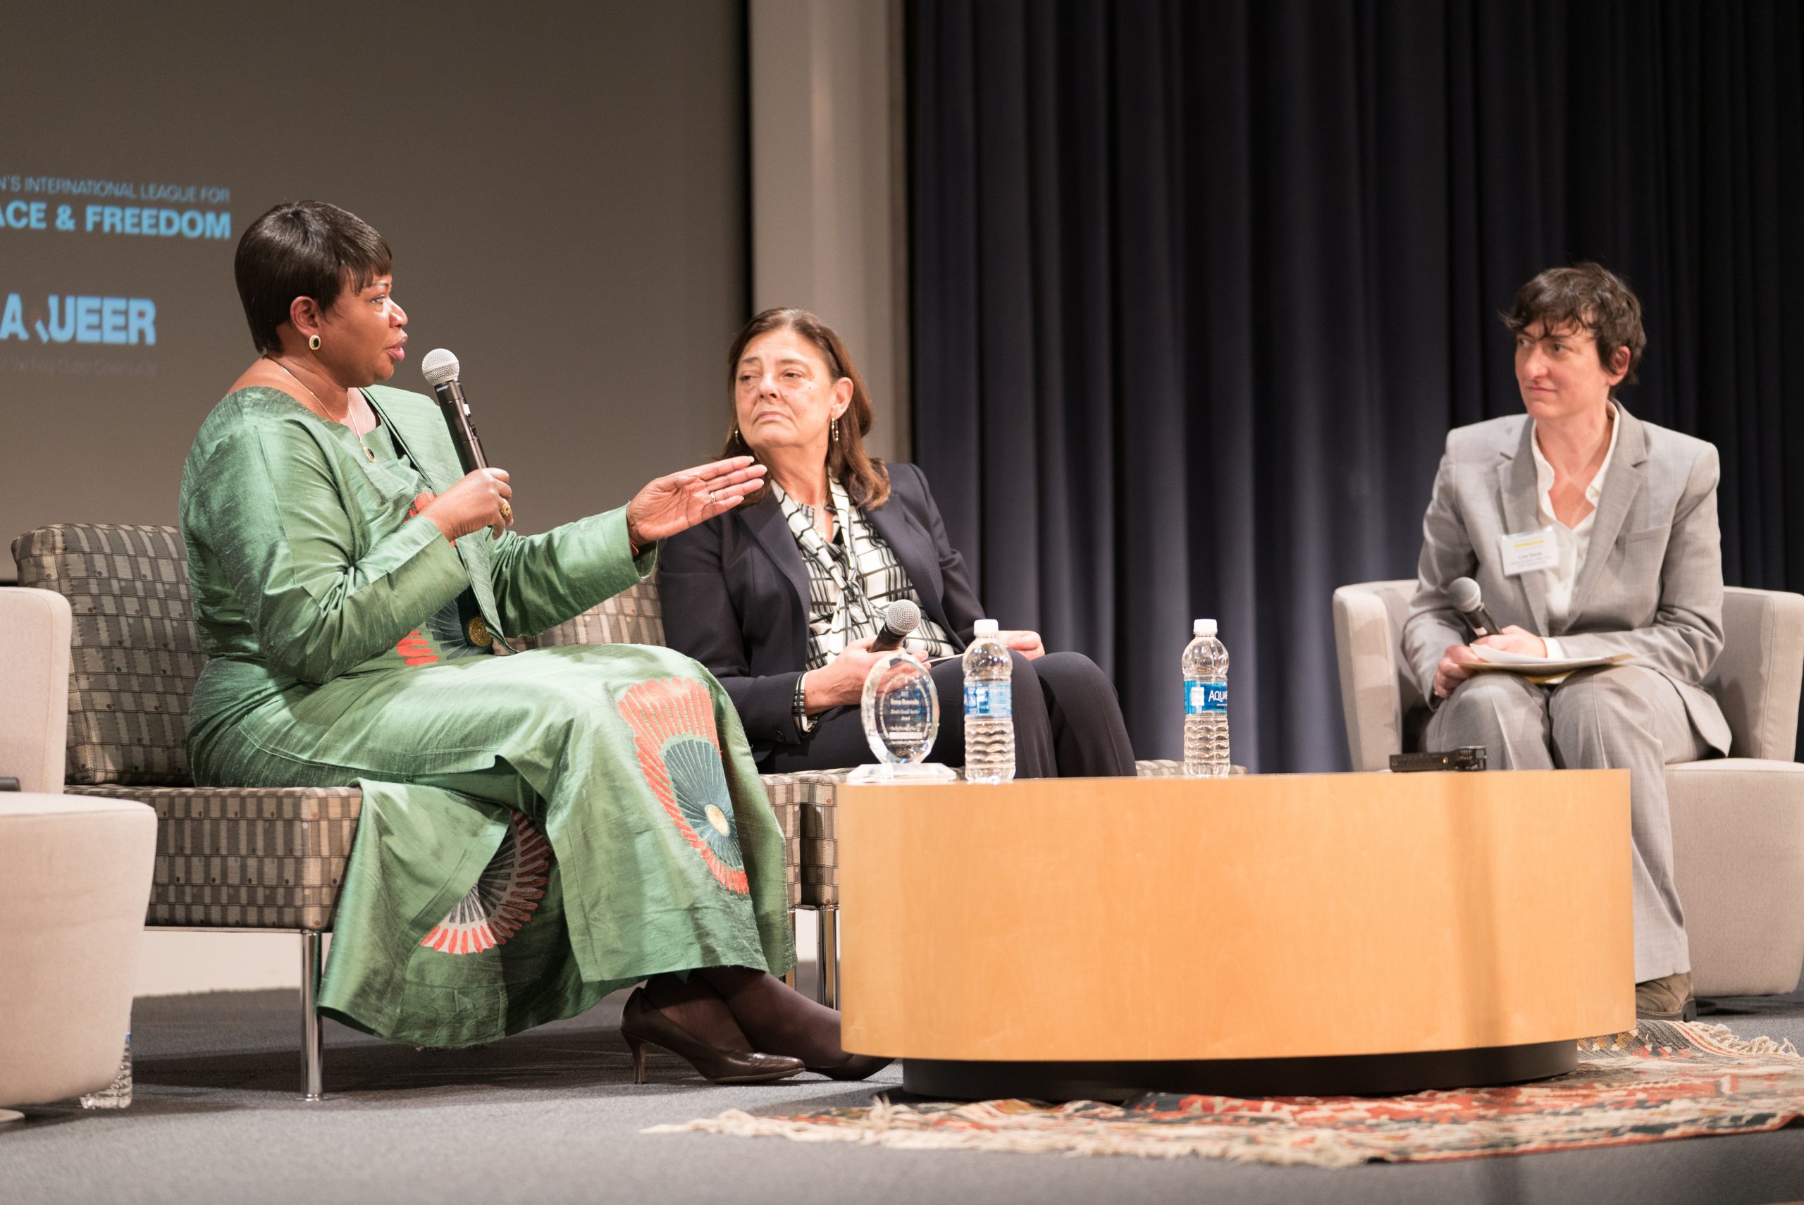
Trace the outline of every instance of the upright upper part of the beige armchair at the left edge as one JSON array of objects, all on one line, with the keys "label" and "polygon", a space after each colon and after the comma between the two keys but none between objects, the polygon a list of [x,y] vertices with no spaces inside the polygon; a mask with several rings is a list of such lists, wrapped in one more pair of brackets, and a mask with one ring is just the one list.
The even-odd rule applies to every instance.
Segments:
[{"label": "upright upper part of the beige armchair at the left edge", "polygon": [[69,599],[0,588],[0,777],[63,792],[69,743]]}]

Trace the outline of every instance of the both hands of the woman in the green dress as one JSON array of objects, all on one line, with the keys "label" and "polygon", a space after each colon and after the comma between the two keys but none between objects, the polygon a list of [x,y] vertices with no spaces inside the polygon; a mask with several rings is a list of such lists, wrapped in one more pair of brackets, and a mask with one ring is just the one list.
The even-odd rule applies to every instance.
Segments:
[{"label": "both hands of the woman in the green dress", "polygon": [[[763,476],[765,465],[750,456],[729,456],[649,482],[626,503],[626,538],[633,552],[725,514],[756,492]],[[437,523],[446,539],[483,527],[500,539],[514,525],[512,496],[507,469],[476,469],[433,498],[420,516]]]}]

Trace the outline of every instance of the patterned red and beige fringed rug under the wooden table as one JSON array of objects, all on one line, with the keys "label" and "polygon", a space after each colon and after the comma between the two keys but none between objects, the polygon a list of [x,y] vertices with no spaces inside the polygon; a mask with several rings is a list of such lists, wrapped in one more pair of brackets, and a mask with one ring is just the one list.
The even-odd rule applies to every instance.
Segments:
[{"label": "patterned red and beige fringed rug under the wooden table", "polygon": [[752,1117],[729,1109],[644,1133],[704,1131],[904,1149],[1187,1154],[1256,1164],[1351,1167],[1528,1154],[1779,1129],[1804,1115],[1804,1057],[1721,1025],[1643,1021],[1578,1044],[1578,1070],[1514,1088],[1407,1097],[1185,1097],[1126,1104],[1030,1100],[893,1104]]}]

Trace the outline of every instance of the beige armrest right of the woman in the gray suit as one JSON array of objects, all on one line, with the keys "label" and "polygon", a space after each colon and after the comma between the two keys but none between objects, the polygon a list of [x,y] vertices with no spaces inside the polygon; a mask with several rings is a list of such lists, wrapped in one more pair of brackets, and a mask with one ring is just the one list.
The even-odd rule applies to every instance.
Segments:
[{"label": "beige armrest right of the woman in the gray suit", "polygon": [[1730,752],[1791,761],[1804,678],[1804,595],[1726,586],[1723,635],[1723,655],[1705,689],[1728,720]]}]

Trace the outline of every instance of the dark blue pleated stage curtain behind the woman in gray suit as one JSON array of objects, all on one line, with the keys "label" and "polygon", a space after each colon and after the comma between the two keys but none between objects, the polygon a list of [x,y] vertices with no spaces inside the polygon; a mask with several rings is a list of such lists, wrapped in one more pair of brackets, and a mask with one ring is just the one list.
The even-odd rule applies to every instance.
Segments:
[{"label": "dark blue pleated stage curtain behind the woman in gray suit", "polygon": [[1497,321],[1595,258],[1625,404],[1723,453],[1730,583],[1804,588],[1797,4],[913,0],[915,447],[980,597],[1174,756],[1212,615],[1236,761],[1346,765],[1330,593],[1414,575]]}]

